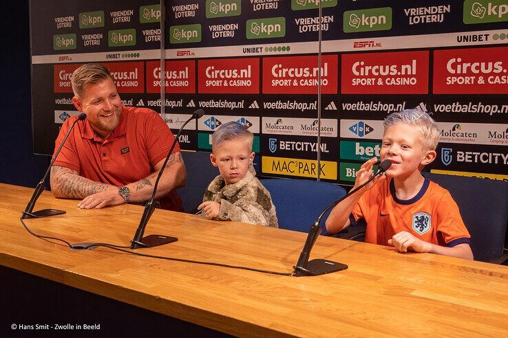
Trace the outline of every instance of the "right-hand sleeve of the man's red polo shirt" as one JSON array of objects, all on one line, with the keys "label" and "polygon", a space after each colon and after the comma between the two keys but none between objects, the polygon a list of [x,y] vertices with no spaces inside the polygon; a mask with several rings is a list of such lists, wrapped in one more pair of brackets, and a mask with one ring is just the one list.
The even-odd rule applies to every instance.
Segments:
[{"label": "right-hand sleeve of the man's red polo shirt", "polygon": [[[155,111],[149,114],[145,127],[147,137],[147,153],[150,166],[155,167],[160,161],[167,157],[167,153],[173,144],[175,137],[162,117]],[[173,154],[180,152],[180,144],[176,142]]]}]

